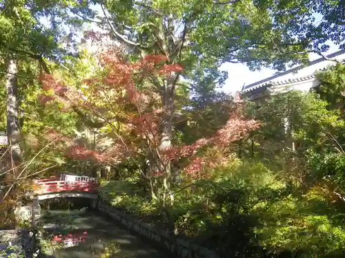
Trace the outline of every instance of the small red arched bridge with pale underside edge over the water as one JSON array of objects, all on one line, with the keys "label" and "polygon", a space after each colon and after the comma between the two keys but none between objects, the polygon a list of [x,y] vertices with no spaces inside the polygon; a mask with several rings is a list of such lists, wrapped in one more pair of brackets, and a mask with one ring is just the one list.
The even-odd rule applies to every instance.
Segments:
[{"label": "small red arched bridge with pale underside edge over the water", "polygon": [[34,181],[34,195],[39,200],[55,197],[87,197],[97,199],[99,182],[97,178],[79,175],[60,175]]}]

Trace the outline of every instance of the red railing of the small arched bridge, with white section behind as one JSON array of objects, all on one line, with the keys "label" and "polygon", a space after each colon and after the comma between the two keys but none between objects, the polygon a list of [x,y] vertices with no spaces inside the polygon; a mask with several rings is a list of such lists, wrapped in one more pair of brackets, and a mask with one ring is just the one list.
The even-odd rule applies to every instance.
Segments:
[{"label": "red railing of the small arched bridge, with white section behind", "polygon": [[49,178],[35,180],[34,193],[36,195],[63,191],[97,193],[98,186],[99,183],[96,178],[77,175],[61,175],[59,179]]}]

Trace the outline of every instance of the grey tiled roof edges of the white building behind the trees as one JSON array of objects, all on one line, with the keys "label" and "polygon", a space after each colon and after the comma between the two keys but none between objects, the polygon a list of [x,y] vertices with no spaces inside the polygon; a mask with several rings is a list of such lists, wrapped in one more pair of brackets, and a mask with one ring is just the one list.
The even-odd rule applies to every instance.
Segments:
[{"label": "grey tiled roof edges of the white building behind the trees", "polygon": [[[334,52],[333,54],[329,54],[327,57],[328,58],[333,58],[335,56],[339,56],[341,54],[345,54],[345,50],[339,50],[337,52]],[[309,63],[308,66],[311,66],[311,65],[315,65],[317,63],[321,63],[322,61],[324,61],[324,58],[318,58],[314,61],[311,61]],[[272,85],[284,85],[286,83],[297,83],[297,82],[301,82],[301,81],[304,81],[304,80],[309,80],[311,78],[315,78],[315,73],[313,74],[310,74],[308,76],[302,76],[302,77],[299,77],[299,78],[291,78],[291,79],[287,79],[287,80],[275,80],[281,76],[284,76],[286,74],[292,74],[293,72],[297,72],[299,69],[303,69],[304,65],[299,65],[297,67],[294,67],[292,69],[288,69],[287,71],[285,72],[282,72],[282,73],[279,73],[279,74],[275,74],[274,76],[270,76],[268,78],[264,78],[263,80],[259,80],[257,81],[256,83],[251,83],[250,85],[245,85],[243,88],[242,88],[242,92],[251,92],[255,89],[259,89],[259,88],[262,88],[262,87],[265,87],[265,86],[272,86]]]}]

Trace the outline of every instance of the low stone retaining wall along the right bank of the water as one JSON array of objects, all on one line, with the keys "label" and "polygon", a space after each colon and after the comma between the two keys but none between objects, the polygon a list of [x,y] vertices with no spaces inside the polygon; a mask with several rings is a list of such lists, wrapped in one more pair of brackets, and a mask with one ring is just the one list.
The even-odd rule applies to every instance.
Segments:
[{"label": "low stone retaining wall along the right bank of the water", "polygon": [[219,258],[213,250],[191,244],[188,241],[179,239],[174,235],[166,233],[164,230],[153,228],[152,226],[139,222],[137,219],[129,217],[115,207],[108,206],[102,202],[98,203],[98,210],[106,213],[120,224],[126,226],[138,235],[154,241],[158,246],[164,248],[173,255],[180,258]]}]

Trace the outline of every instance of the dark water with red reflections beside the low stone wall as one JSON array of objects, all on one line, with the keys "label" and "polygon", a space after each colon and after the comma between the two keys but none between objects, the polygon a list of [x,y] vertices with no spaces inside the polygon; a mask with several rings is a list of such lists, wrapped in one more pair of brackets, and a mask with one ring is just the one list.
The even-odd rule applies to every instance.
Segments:
[{"label": "dark water with red reflections beside the low stone wall", "polygon": [[43,215],[47,255],[56,258],[168,257],[92,211],[50,211]]}]

